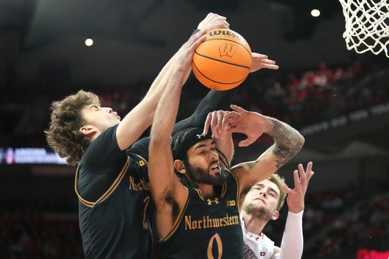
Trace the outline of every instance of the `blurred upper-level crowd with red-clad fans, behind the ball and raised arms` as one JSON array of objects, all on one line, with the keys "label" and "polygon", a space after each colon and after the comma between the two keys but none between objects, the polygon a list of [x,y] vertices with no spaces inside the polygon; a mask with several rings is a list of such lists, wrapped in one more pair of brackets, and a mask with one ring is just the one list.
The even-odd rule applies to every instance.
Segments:
[{"label": "blurred upper-level crowd with red-clad fans, behind the ball and raised arms", "polygon": [[[49,123],[49,105],[53,100],[76,92],[80,86],[66,85],[16,86],[16,72],[8,69],[7,88],[0,97],[0,125],[2,143],[12,146],[45,145],[43,130]],[[378,76],[380,75],[380,77]],[[378,79],[379,77],[379,79]],[[53,83],[56,81],[50,81]],[[138,104],[151,82],[138,82],[132,86],[85,85],[101,98],[104,106],[112,107],[122,117]],[[186,118],[207,93],[194,77],[183,91],[183,102],[178,118]],[[185,96],[189,97],[185,100]],[[374,104],[389,101],[389,71],[377,65],[327,66],[295,72],[261,70],[253,73],[235,94],[234,104],[248,110],[285,121],[299,129],[325,119],[350,113]],[[185,106],[185,109],[182,107]]]}]

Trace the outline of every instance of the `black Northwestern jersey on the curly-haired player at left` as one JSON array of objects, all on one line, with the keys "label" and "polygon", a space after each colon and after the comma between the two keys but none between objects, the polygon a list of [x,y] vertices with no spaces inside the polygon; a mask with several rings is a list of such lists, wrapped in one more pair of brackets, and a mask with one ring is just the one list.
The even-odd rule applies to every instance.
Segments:
[{"label": "black Northwestern jersey on the curly-haired player at left", "polygon": [[149,191],[147,161],[127,152],[127,160],[111,187],[96,202],[77,191],[80,162],[75,176],[79,198],[79,224],[86,258],[149,259],[154,203]]}]

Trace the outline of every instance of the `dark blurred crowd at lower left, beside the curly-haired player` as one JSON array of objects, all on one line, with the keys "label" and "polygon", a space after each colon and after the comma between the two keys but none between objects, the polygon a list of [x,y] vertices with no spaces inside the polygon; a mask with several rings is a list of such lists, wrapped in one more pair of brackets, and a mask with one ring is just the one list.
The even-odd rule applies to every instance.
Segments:
[{"label": "dark blurred crowd at lower left, beside the curly-haired player", "polygon": [[84,258],[76,208],[37,201],[2,206],[0,258]]}]

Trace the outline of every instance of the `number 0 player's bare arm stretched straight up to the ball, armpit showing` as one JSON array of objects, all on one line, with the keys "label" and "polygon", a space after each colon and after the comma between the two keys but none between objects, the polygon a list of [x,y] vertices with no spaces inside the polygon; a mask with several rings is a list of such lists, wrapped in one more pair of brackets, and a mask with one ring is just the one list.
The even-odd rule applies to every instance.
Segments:
[{"label": "number 0 player's bare arm stretched straight up to the ball, armpit showing", "polygon": [[181,89],[191,71],[191,61],[205,31],[193,35],[178,51],[171,77],[163,92],[151,127],[149,147],[150,191],[156,204],[156,228],[159,237],[170,231],[186,200],[186,189],[174,173],[170,135],[177,117]]}]

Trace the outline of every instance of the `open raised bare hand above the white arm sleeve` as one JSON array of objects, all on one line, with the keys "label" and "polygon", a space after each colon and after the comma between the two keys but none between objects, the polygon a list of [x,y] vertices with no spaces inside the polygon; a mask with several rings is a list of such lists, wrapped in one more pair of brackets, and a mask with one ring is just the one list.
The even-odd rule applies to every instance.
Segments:
[{"label": "open raised bare hand above the white arm sleeve", "polygon": [[288,197],[286,198],[286,204],[288,205],[290,212],[299,213],[304,209],[305,193],[307,191],[309,180],[314,174],[312,171],[312,164],[312,162],[308,163],[306,171],[304,171],[302,165],[299,164],[299,171],[295,170],[293,172],[293,177],[295,180],[295,188],[293,190],[286,187],[286,185],[282,186],[282,189],[288,194]]}]

